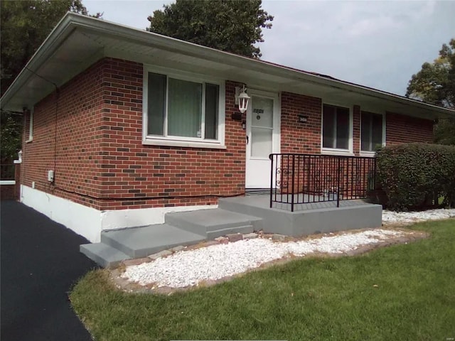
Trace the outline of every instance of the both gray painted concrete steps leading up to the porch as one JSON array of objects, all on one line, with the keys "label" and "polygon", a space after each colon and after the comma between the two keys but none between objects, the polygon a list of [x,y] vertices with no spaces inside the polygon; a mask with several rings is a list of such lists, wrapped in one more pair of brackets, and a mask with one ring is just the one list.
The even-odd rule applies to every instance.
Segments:
[{"label": "both gray painted concrete steps leading up to the porch", "polygon": [[121,261],[179,245],[262,229],[260,218],[221,209],[167,213],[165,221],[164,224],[103,231],[100,243],[83,244],[80,251],[97,264],[112,268]]}]

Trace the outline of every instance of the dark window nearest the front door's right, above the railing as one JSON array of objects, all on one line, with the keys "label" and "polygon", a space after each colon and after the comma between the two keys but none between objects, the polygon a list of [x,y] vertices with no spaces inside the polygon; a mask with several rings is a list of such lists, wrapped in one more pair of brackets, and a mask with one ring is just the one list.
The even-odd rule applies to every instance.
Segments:
[{"label": "dark window nearest the front door's right, above the railing", "polygon": [[350,112],[348,108],[323,105],[322,147],[350,149]]}]

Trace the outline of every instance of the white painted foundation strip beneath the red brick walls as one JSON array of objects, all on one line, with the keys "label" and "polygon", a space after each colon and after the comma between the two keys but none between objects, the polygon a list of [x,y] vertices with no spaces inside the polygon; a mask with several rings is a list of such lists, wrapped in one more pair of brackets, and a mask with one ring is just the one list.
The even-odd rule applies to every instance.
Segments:
[{"label": "white painted foundation strip beneath the red brick walls", "polygon": [[92,243],[100,242],[101,232],[105,230],[163,224],[168,212],[218,208],[218,205],[195,205],[100,211],[25,185],[21,185],[21,202]]}]

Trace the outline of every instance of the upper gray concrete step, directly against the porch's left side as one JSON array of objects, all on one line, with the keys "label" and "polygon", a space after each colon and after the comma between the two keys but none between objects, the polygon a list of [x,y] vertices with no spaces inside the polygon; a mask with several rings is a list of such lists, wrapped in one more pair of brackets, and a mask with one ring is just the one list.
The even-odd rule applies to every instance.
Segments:
[{"label": "upper gray concrete step, directly against the porch's left side", "polygon": [[228,233],[249,233],[262,229],[262,218],[221,210],[197,210],[167,213],[166,224],[185,229],[196,234],[206,235],[208,239]]}]

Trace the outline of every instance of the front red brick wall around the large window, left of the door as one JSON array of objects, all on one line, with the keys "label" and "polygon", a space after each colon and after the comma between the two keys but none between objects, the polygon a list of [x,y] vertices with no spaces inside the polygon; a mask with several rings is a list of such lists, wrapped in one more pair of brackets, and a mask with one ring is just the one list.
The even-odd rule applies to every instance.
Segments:
[{"label": "front red brick wall around the large window, left of the door", "polygon": [[142,65],[107,59],[104,77],[103,209],[208,205],[245,192],[245,131],[231,119],[234,82],[226,82],[227,149],[218,150],[143,145]]}]

